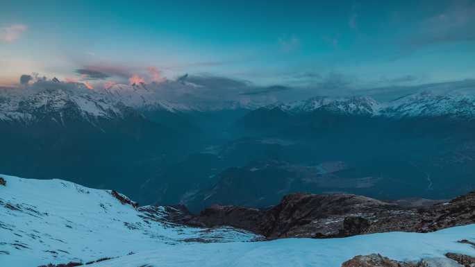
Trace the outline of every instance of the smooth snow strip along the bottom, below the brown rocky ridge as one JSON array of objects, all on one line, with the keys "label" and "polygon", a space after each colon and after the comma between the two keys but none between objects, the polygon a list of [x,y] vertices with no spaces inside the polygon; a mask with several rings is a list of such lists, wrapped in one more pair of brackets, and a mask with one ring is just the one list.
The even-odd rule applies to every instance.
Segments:
[{"label": "smooth snow strip along the bottom, below the brown rocky ridge", "polygon": [[138,266],[325,266],[339,267],[356,255],[380,253],[400,261],[444,257],[446,252],[475,255],[475,249],[457,243],[475,239],[475,225],[453,227],[428,234],[390,232],[342,239],[279,239],[253,243],[161,245],[102,261],[91,267]]}]

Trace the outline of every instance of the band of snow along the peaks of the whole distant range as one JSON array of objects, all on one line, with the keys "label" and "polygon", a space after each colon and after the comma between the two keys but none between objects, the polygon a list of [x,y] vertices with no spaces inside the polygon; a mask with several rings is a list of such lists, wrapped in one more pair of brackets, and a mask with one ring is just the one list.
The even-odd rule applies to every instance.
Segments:
[{"label": "band of snow along the peaks of the whole distant range", "polygon": [[[303,101],[274,103],[267,101],[218,101],[206,99],[177,99],[163,94],[163,86],[174,92],[175,83],[147,85],[113,85],[107,89],[85,89],[81,84],[44,82],[31,88],[10,89],[0,92],[0,121],[33,121],[38,112],[58,112],[73,104],[83,117],[90,120],[101,117],[121,117],[119,106],[137,110],[165,110],[167,112],[208,112],[217,110],[267,110],[278,108],[290,114],[325,110],[338,114],[364,115],[369,117],[439,117],[462,119],[475,117],[475,97],[462,93],[410,94],[394,101],[378,103],[368,96],[328,97],[315,96]],[[168,91],[167,91],[168,92]],[[168,98],[167,98],[168,96]],[[172,100],[173,99],[173,100]],[[272,101],[271,101],[272,102]]]}]

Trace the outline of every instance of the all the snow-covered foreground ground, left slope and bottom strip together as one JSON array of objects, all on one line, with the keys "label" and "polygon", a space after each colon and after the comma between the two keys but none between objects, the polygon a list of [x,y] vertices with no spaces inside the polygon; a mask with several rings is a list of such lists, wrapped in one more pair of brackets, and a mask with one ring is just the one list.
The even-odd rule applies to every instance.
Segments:
[{"label": "all the snow-covered foreground ground, left slope and bottom strip together", "polygon": [[457,242],[475,241],[475,225],[428,234],[249,242],[259,236],[232,228],[209,230],[167,223],[162,208],[149,214],[152,207],[122,205],[109,191],[63,180],[0,177],[6,180],[6,187],[0,185],[0,266],[117,257],[88,266],[337,267],[355,255],[371,253],[404,261],[444,257],[446,252],[475,256],[475,248]]}]

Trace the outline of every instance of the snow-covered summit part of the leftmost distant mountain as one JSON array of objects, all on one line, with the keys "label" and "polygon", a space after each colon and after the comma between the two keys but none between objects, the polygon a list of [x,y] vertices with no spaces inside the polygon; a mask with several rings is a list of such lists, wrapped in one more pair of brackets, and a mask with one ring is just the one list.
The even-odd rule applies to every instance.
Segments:
[{"label": "snow-covered summit part of the leftmost distant mountain", "polygon": [[0,96],[0,121],[51,119],[64,125],[66,117],[94,122],[122,119],[125,113],[124,104],[81,84],[44,83],[41,89],[12,89]]}]

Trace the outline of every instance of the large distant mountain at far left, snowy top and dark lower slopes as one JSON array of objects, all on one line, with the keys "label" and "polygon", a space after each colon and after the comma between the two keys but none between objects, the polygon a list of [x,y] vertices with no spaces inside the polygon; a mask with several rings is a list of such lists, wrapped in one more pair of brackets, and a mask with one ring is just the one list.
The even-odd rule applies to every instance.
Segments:
[{"label": "large distant mountain at far left, snowy top and dark lower slopes", "polygon": [[[0,96],[0,169],[64,178],[132,196],[143,180],[196,145],[197,130],[162,110],[153,119],[80,84],[48,82]],[[28,162],[28,164],[25,164]],[[138,175],[134,187],[126,185]]]}]

